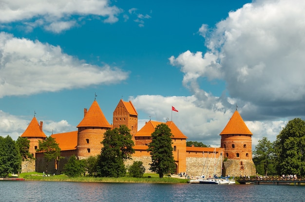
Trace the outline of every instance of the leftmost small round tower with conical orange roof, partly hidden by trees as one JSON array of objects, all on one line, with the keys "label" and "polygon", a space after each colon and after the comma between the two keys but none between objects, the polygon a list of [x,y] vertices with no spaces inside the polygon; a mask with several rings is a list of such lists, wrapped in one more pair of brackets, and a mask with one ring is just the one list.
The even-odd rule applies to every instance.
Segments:
[{"label": "leftmost small round tower with conical orange roof, partly hidden by trees", "polygon": [[30,140],[30,148],[29,152],[33,154],[33,157],[36,158],[36,150],[38,149],[38,141],[39,140],[45,140],[47,137],[43,131],[42,131],[42,125],[43,122],[40,121],[40,125],[38,124],[38,121],[36,117],[32,119],[24,133],[20,137],[26,137],[28,140]]}]

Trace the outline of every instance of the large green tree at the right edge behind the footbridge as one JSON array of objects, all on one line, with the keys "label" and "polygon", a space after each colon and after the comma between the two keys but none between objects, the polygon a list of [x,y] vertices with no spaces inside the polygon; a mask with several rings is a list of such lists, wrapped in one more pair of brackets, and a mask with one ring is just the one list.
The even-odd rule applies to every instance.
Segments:
[{"label": "large green tree at the right edge behind the footbridge", "polygon": [[305,121],[294,118],[275,141],[278,174],[305,176]]}]

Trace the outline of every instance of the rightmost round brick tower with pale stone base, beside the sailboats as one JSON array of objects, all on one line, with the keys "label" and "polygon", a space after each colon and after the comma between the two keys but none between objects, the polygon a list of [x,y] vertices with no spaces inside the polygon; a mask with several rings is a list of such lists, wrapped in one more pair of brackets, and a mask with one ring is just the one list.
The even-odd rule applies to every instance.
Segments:
[{"label": "rightmost round brick tower with pale stone base, beside the sailboats", "polygon": [[252,133],[236,110],[221,135],[225,149],[223,175],[253,176],[256,174],[252,160]]}]

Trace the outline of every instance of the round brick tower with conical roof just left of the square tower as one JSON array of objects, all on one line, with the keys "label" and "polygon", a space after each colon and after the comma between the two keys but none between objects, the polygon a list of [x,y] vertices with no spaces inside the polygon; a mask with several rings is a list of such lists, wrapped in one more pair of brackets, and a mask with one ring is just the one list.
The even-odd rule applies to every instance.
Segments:
[{"label": "round brick tower with conical roof just left of the square tower", "polygon": [[79,159],[99,154],[104,133],[112,128],[96,100],[93,101],[89,111],[84,109],[84,118],[76,127],[78,128],[76,153]]}]

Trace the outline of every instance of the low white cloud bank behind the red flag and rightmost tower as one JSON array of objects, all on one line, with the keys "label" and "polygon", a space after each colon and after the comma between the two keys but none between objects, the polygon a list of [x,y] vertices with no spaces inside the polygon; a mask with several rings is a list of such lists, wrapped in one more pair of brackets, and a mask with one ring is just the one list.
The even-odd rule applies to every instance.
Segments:
[{"label": "low white cloud bank behind the red flag and rightmost tower", "polygon": [[[195,96],[140,95],[130,97],[136,110],[144,112],[147,116],[147,119],[139,119],[138,130],[144,126],[149,117],[160,122],[172,120],[182,133],[188,136],[188,141],[200,141],[211,147],[220,147],[219,134],[226,127],[236,108],[225,108],[220,98],[209,99],[214,99],[214,105],[211,108],[198,106],[198,102],[201,101]],[[228,103],[231,102],[230,98],[227,99]],[[179,112],[172,112],[172,106]],[[244,110],[245,108],[240,108],[239,113],[243,113]],[[274,141],[276,135],[286,125],[286,121],[245,121],[245,123],[253,134],[253,150],[258,140],[265,136],[270,141]]]}]

